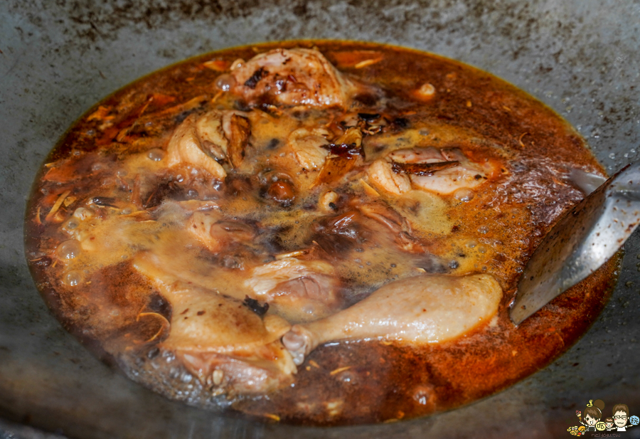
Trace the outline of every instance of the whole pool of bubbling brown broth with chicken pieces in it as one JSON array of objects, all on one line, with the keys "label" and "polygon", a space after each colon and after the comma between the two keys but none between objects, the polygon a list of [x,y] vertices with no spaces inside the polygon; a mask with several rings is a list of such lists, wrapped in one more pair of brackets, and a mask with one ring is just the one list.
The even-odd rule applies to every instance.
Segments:
[{"label": "whole pool of bubbling brown broth with chicken pieces in it", "polygon": [[494,393],[594,321],[619,258],[516,329],[545,232],[604,176],[553,111],[392,46],[268,43],[115,92],[43,165],[38,289],[169,398],[268,421],[397,421]]}]

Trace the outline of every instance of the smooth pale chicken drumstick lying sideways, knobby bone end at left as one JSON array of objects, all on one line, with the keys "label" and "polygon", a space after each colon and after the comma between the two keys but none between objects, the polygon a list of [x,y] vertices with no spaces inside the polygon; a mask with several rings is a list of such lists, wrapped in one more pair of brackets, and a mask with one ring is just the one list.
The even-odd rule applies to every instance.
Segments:
[{"label": "smooth pale chicken drumstick lying sideways, knobby bone end at left", "polygon": [[330,317],[295,324],[282,342],[296,364],[333,340],[386,339],[414,346],[446,342],[491,319],[501,297],[491,275],[409,277]]}]

